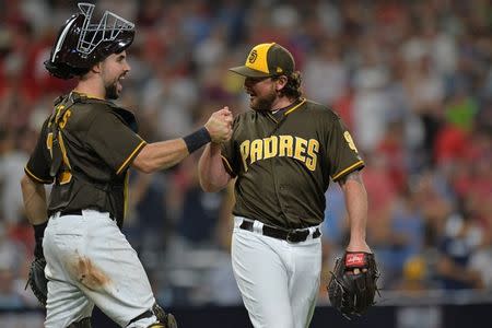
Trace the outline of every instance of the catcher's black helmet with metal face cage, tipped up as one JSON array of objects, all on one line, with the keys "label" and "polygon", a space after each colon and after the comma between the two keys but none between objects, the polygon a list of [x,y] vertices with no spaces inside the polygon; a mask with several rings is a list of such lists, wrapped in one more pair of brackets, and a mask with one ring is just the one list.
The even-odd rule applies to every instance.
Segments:
[{"label": "catcher's black helmet with metal face cage, tipped up", "polygon": [[79,3],[80,13],[61,26],[46,69],[60,79],[82,75],[112,54],[118,54],[133,42],[134,24],[105,11],[99,23],[91,24],[92,3]]}]

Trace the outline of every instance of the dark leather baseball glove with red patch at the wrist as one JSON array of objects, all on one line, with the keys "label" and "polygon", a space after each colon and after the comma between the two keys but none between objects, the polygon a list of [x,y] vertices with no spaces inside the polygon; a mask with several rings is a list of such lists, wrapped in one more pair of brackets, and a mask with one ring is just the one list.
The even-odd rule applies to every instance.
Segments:
[{"label": "dark leather baseball glove with red patch at the wrist", "polygon": [[327,286],[331,305],[348,319],[362,315],[374,305],[375,293],[379,294],[378,278],[373,254],[345,251],[342,258],[337,258]]}]

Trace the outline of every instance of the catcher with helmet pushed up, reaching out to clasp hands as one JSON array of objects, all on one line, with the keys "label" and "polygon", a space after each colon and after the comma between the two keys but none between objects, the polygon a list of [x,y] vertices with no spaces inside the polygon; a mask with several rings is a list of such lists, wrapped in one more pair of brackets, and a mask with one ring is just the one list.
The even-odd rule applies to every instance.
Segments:
[{"label": "catcher with helmet pushed up, reaching out to clasp hands", "polygon": [[[91,327],[94,305],[121,327],[175,328],[120,231],[128,171],[164,169],[210,141],[224,142],[232,115],[223,108],[185,138],[148,144],[133,114],[112,102],[130,71],[133,23],[108,11],[93,23],[94,4],[79,8],[45,62],[52,75],[78,84],[55,102],[21,181],[36,239],[30,284],[46,305],[47,328]],[[52,184],[48,202],[44,184]]]}]

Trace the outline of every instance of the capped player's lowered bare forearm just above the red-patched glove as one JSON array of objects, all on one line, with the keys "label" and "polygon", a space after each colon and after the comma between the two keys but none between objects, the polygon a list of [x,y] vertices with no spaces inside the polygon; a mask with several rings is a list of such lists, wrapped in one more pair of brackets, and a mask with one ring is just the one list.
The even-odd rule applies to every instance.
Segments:
[{"label": "capped player's lowered bare forearm just above the red-patched glove", "polygon": [[365,242],[367,223],[367,192],[358,172],[351,173],[340,183],[350,220],[349,250],[370,251]]}]

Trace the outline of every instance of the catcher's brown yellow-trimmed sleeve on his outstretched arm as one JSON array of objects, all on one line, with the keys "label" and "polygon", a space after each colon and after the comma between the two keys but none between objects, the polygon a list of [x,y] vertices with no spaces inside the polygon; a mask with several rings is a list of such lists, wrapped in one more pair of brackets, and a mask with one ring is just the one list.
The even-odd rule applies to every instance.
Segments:
[{"label": "catcher's brown yellow-trimmed sleeve on his outstretched arm", "polygon": [[86,142],[116,174],[124,172],[147,144],[112,112],[96,116],[87,130]]}]

